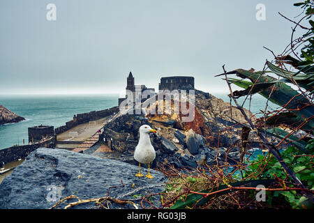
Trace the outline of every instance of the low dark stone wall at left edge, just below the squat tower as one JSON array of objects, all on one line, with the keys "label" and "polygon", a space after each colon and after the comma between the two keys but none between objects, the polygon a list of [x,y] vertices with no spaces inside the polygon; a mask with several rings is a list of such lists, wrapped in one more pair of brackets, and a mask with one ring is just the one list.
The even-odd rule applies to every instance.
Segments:
[{"label": "low dark stone wall at left edge, just below the squat tower", "polygon": [[0,167],[2,167],[3,163],[6,164],[15,160],[24,159],[29,153],[35,151],[37,148],[54,148],[56,146],[56,140],[57,137],[54,135],[54,137],[36,144],[3,148],[0,150]]}]

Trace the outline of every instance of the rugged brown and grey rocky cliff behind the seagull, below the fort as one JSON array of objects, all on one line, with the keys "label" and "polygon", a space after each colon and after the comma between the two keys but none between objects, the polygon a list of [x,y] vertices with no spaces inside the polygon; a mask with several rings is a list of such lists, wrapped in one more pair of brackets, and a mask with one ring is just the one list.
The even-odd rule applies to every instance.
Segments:
[{"label": "rugged brown and grey rocky cliff behind the seagull, below the fort", "polygon": [[[147,110],[158,103],[160,102],[156,100]],[[217,154],[220,164],[225,160],[232,164],[239,161],[241,125],[230,128],[237,122],[245,122],[238,109],[230,109],[230,103],[197,90],[193,121],[183,122],[181,113],[174,114],[173,105],[172,101],[171,114],[149,114],[147,110],[142,111],[140,115],[117,114],[114,120],[105,125],[100,137],[107,149],[103,152],[93,147],[83,153],[137,164],[133,153],[139,139],[138,129],[147,124],[157,130],[156,134],[151,134],[151,141],[156,150],[153,167],[164,162],[178,168],[195,168],[205,163],[216,164]],[[253,116],[246,109],[245,112],[248,116]]]}]

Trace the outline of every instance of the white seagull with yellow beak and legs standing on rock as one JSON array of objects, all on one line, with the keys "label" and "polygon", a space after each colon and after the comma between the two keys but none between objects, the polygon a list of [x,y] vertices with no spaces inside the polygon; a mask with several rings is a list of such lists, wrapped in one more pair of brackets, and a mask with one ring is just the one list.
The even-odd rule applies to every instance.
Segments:
[{"label": "white seagull with yellow beak and legs standing on rock", "polygon": [[[138,174],[135,176],[144,176],[141,174],[141,163],[148,163],[150,167],[150,162],[155,160],[156,153],[154,147],[151,145],[151,139],[149,139],[149,132],[155,132],[149,125],[142,125],[140,127],[140,140],[135,147],[134,159],[138,162]],[[146,175],[147,178],[154,178],[151,174]]]}]

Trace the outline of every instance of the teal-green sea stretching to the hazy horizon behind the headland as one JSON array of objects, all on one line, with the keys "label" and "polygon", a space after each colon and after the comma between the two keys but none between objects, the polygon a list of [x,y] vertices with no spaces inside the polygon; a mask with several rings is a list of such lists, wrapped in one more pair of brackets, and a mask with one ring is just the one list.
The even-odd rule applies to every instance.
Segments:
[{"label": "teal-green sea stretching to the hazy horizon behind the headland", "polygon": [[[226,102],[230,102],[227,93],[214,94]],[[3,105],[26,121],[0,125],[0,149],[13,145],[22,145],[23,139],[28,144],[27,131],[35,125],[53,125],[57,128],[72,120],[74,114],[98,111],[118,105],[119,94],[106,95],[0,95],[0,105]],[[239,99],[243,102],[243,99]],[[264,110],[266,99],[261,95],[253,95],[251,111]],[[278,106],[269,102],[271,107]],[[249,107],[247,101],[245,106]]]}]

